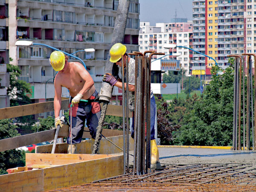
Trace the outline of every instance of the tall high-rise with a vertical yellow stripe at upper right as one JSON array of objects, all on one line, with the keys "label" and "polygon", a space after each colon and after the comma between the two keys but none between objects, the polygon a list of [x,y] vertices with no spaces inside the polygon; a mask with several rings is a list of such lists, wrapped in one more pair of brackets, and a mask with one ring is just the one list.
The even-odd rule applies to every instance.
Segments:
[{"label": "tall high-rise with a vertical yellow stripe at upper right", "polygon": [[[226,68],[227,55],[256,52],[255,20],[255,0],[193,0],[193,49]],[[194,65],[210,67],[215,63],[200,54],[193,58],[198,58]]]}]

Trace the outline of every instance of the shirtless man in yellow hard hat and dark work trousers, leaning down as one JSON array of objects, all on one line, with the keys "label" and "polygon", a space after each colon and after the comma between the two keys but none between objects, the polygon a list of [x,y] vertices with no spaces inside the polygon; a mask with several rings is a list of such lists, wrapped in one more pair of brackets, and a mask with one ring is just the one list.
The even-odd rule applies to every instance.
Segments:
[{"label": "shirtless man in yellow hard hat and dark work trousers, leaning down", "polygon": [[[101,108],[96,102],[98,93],[94,87],[94,82],[88,71],[79,62],[68,62],[68,57],[61,51],[54,51],[50,56],[50,64],[55,71],[58,71],[54,79],[54,113],[55,127],[61,125],[61,93],[62,87],[66,87],[70,93],[70,105],[72,104],[72,145],[68,147],[68,153],[76,153],[76,144],[81,142],[84,133],[85,120],[93,139],[96,137]],[[88,102],[80,101],[85,99]],[[70,106],[69,105],[69,106]],[[70,144],[71,138],[67,143]],[[72,147],[71,147],[72,146]]]}]

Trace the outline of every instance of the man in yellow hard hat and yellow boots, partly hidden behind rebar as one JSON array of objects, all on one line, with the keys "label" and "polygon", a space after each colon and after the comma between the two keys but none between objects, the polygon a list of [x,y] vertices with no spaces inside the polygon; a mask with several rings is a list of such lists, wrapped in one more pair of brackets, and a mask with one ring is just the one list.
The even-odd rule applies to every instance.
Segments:
[{"label": "man in yellow hard hat and yellow boots, partly hidden behind rebar", "polygon": [[[134,114],[134,91],[135,91],[135,60],[133,58],[128,57],[126,52],[126,47],[123,44],[117,43],[114,44],[110,49],[110,61],[116,63],[119,67],[122,66],[122,55],[124,55],[124,67],[126,67],[126,60],[128,59],[128,89],[129,89],[129,110]],[[126,70],[125,70],[126,71]],[[126,77],[126,74],[125,74]],[[126,90],[126,79],[125,80],[125,90]],[[109,82],[111,86],[116,86],[122,89],[122,80],[119,76],[112,76],[110,73],[106,73],[103,77],[103,81]],[[157,143],[155,140],[155,131],[154,131],[154,123],[155,123],[155,110],[156,110],[156,102],[154,99],[154,95],[151,89],[151,100],[150,100],[150,129],[151,129],[151,168],[160,169],[161,164],[159,161],[159,152],[157,148]],[[134,115],[132,117],[132,131],[131,137],[134,138]]]}]

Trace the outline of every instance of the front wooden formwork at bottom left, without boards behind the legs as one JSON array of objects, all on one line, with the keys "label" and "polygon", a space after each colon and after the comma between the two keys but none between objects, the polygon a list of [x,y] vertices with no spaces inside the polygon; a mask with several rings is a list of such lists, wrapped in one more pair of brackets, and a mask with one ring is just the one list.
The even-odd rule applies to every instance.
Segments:
[{"label": "front wooden formwork at bottom left, without boards behind the legs", "polygon": [[1,175],[0,189],[1,192],[40,192],[113,177],[122,174],[122,161],[122,155],[27,153],[26,167],[20,168],[25,170]]}]

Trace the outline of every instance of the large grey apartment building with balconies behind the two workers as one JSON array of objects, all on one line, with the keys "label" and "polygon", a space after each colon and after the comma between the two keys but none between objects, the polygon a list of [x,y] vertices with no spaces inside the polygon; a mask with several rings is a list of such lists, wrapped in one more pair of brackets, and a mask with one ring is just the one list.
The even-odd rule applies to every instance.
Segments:
[{"label": "large grey apartment building with balconies behind the two workers", "polygon": [[[56,72],[49,64],[53,49],[44,46],[16,47],[17,40],[28,40],[73,53],[76,52],[99,91],[118,7],[118,0],[9,0],[10,63],[20,66],[20,79],[31,84],[33,102],[54,97]],[[123,43],[128,52],[138,51],[139,0],[131,0]],[[69,61],[77,61],[69,58]],[[46,88],[45,88],[46,87]],[[46,94],[47,93],[47,94]],[[114,90],[114,94],[118,90]],[[46,98],[45,98],[46,95]],[[63,96],[68,96],[63,89]]]}]

